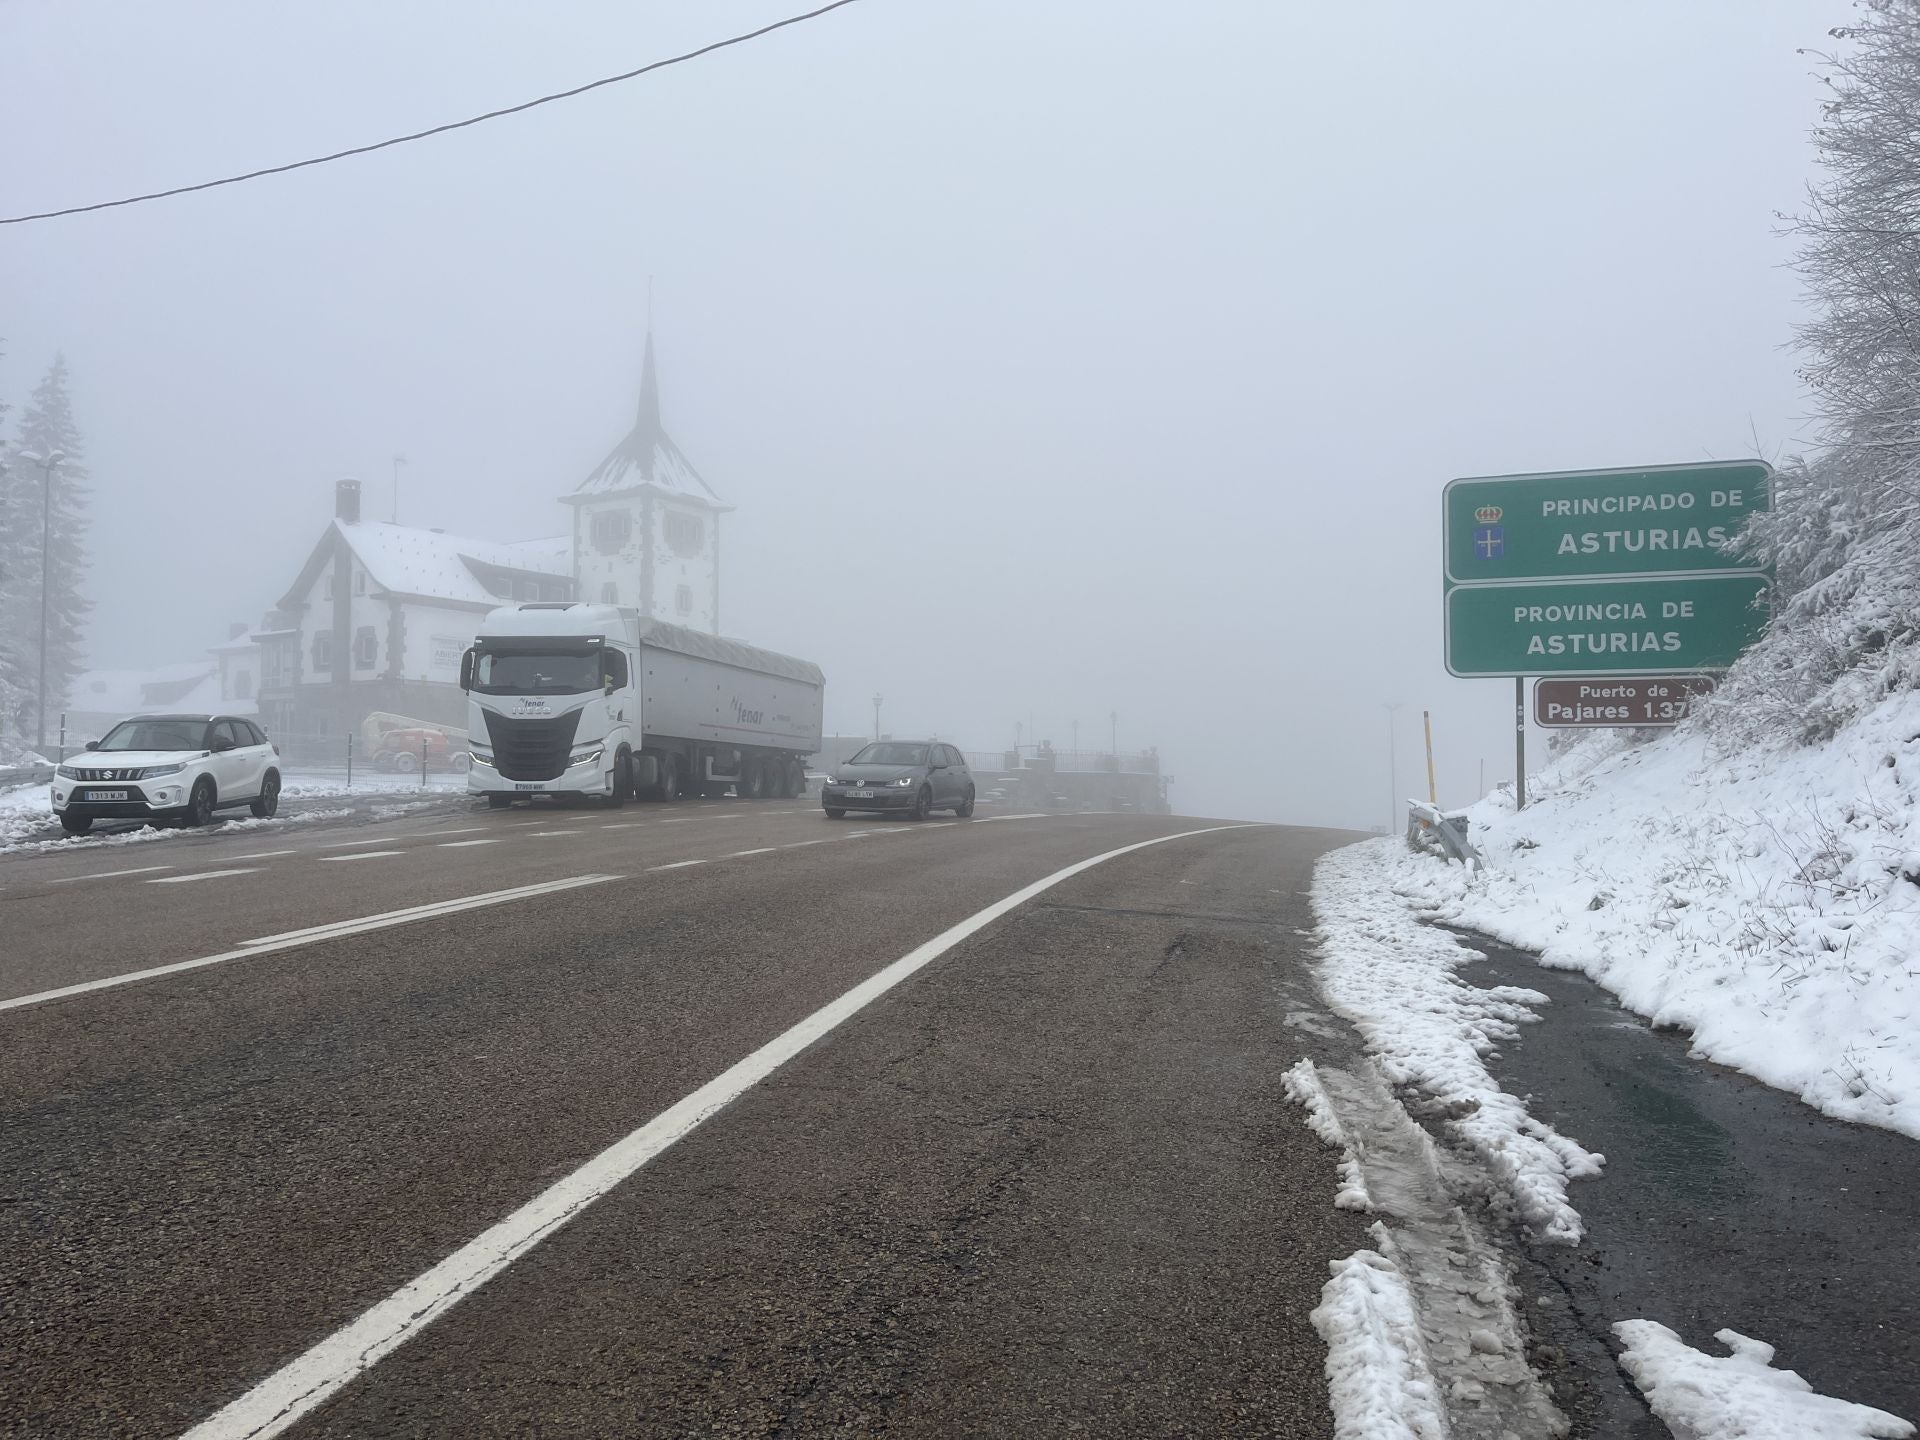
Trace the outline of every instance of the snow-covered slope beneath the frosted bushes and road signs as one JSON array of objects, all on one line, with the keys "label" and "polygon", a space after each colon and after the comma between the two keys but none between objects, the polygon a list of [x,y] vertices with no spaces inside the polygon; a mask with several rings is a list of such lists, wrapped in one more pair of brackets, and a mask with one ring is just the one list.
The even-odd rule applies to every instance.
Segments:
[{"label": "snow-covered slope beneath the frosted bushes and road signs", "polygon": [[1473,806],[1484,874],[1392,847],[1380,883],[1586,972],[1695,1054],[1920,1137],[1920,693],[1812,747],[1596,735],[1532,791]]}]

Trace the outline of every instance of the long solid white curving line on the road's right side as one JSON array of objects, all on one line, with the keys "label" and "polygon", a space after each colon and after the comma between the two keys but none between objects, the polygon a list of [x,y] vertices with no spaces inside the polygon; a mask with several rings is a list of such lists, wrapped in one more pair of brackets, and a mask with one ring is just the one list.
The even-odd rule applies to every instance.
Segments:
[{"label": "long solid white curving line on the road's right side", "polygon": [[492,1281],[507,1265],[559,1231],[649,1160],[695,1131],[703,1121],[712,1119],[745,1091],[764,1081],[835,1025],[860,1014],[887,991],[939,960],[960,941],[985,929],[1035,895],[1052,889],[1064,879],[1071,879],[1083,870],[1092,870],[1096,864],[1131,854],[1133,851],[1144,851],[1150,845],[1165,845],[1167,841],[1190,839],[1192,835],[1212,835],[1221,829],[1256,829],[1256,826],[1208,826],[1206,829],[1183,829],[1173,835],[1139,841],[1137,845],[1123,845],[1117,851],[1108,851],[1089,860],[1077,860],[1066,870],[1056,870],[1044,879],[1014,891],[1004,900],[995,900],[958,925],[943,929],[931,941],[914,947],[885,970],[868,975],[837,1000],[829,1000],[806,1016],[806,1020],[781,1031],[745,1060],[735,1062],[693,1091],[693,1094],[662,1110],[637,1131],[614,1140],[572,1175],[555,1181],[503,1221],[474,1236],[438,1265],[415,1277],[305,1354],[290,1359],[244,1396],[204,1419],[182,1440],[267,1440],[267,1436],[280,1434],[344,1384],[445,1315],[459,1300]]}]

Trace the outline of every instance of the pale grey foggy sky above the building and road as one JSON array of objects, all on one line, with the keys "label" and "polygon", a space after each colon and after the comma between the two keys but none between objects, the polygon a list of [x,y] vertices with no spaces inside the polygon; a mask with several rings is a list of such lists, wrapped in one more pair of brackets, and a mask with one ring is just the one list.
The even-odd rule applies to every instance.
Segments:
[{"label": "pale grey foggy sky above the building and road", "polygon": [[[0,207],[382,138],[801,4],[0,4]],[[1803,444],[1776,211],[1849,8],[864,0],[582,100],[0,227],[0,394],[56,349],[90,660],[194,659],[359,476],[553,534],[632,422],[737,513],[724,628],[829,726],[1156,743],[1192,814],[1373,826],[1511,776],[1440,659],[1457,474]],[[1031,739],[1031,733],[1029,733]]]}]

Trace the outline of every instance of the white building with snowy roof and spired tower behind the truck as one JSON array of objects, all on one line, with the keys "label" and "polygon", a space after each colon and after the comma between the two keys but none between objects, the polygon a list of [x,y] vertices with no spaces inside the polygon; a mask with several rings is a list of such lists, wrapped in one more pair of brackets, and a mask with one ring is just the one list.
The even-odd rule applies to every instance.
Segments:
[{"label": "white building with snowy roof and spired tower behind the truck", "polygon": [[730,507],[660,424],[651,334],[632,432],[563,499],[570,534],[501,543],[363,520],[359,482],[338,482],[332,524],[252,637],[267,732],[332,743],[376,710],[465,726],[461,655],[495,605],[609,601],[718,634]]}]

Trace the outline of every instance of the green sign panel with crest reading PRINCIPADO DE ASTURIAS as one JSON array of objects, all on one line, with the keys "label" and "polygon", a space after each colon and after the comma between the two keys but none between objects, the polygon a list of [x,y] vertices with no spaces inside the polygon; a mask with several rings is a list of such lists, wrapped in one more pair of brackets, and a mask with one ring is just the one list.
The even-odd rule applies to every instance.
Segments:
[{"label": "green sign panel with crest reading PRINCIPADO DE ASTURIAS", "polygon": [[1453,480],[1442,501],[1446,584],[1609,574],[1759,572],[1720,551],[1772,507],[1764,461]]}]

